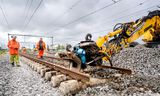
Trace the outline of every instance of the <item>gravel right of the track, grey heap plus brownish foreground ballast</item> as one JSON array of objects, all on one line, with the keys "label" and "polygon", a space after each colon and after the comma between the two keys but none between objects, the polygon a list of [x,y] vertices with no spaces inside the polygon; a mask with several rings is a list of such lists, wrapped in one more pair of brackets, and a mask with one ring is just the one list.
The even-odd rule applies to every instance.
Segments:
[{"label": "gravel right of the track, grey heap plus brownish foreground ballast", "polygon": [[114,66],[131,69],[132,75],[92,68],[96,73],[92,76],[104,77],[106,83],[88,87],[76,96],[160,96],[160,49],[127,48],[116,54],[112,62]]}]

